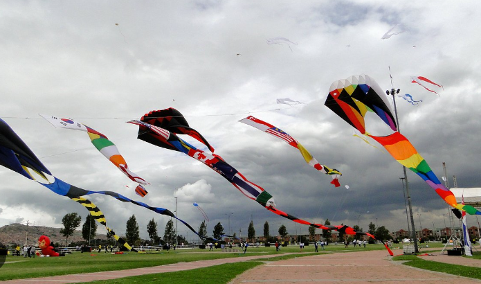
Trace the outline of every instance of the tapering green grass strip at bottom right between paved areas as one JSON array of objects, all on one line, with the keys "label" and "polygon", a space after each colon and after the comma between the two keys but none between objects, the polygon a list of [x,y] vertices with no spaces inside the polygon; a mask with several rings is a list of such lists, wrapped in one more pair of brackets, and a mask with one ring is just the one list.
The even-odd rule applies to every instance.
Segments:
[{"label": "tapering green grass strip at bottom right between paved areas", "polygon": [[392,260],[404,261],[403,265],[416,267],[420,269],[426,269],[435,272],[444,272],[447,274],[453,274],[457,276],[464,276],[469,278],[481,279],[481,268],[452,265],[448,263],[438,263],[436,261],[424,260],[417,256],[394,256]]}]

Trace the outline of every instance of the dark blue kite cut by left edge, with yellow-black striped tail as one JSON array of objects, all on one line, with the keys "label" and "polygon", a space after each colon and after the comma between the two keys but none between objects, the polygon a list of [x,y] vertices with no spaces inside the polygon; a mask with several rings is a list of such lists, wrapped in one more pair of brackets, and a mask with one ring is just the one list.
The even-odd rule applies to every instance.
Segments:
[{"label": "dark blue kite cut by left edge, with yellow-black striped tail", "polygon": [[42,184],[42,186],[45,186],[46,188],[52,190],[54,193],[57,193],[57,195],[69,197],[75,202],[78,202],[79,204],[87,208],[93,218],[95,218],[100,224],[105,226],[107,231],[109,231],[112,236],[114,236],[114,238],[120,243],[120,245],[126,247],[129,250],[132,250],[129,244],[127,244],[125,240],[122,240],[122,238],[118,237],[114,231],[107,227],[105,215],[102,213],[102,211],[100,211],[100,209],[89,199],[85,199],[84,197],[82,197],[82,195],[109,195],[111,197],[114,197],[115,199],[118,199],[120,202],[130,202],[132,204],[136,204],[137,206],[142,206],[151,211],[154,211],[155,213],[175,218],[176,220],[179,220],[180,222],[185,224],[186,227],[188,227],[192,232],[196,233],[200,238],[206,238],[205,236],[199,235],[199,233],[197,233],[197,231],[195,231],[188,223],[179,218],[176,218],[174,213],[165,208],[152,207],[143,202],[136,202],[114,191],[84,190],[71,184],[67,184],[61,179],[58,179],[51,174],[51,172],[42,164],[41,161],[39,161],[35,154],[33,154],[30,148],[28,148],[26,143],[24,143],[24,141],[22,141],[20,137],[10,128],[10,126],[1,118],[0,165],[9,168],[10,170],[13,170],[20,175],[27,177],[28,179],[37,181],[39,184]]}]

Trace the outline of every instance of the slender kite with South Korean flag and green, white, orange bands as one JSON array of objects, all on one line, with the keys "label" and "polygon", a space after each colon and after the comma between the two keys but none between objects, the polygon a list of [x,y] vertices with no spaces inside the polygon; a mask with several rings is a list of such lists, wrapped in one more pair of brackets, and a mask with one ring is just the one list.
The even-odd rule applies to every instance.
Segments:
[{"label": "slender kite with South Korean flag and green, white, orange bands", "polygon": [[87,132],[95,148],[97,148],[100,153],[102,153],[107,159],[109,159],[109,161],[114,163],[114,165],[121,172],[127,175],[129,179],[131,179],[132,181],[136,181],[139,184],[149,184],[147,181],[145,181],[145,179],[139,177],[134,172],[131,172],[129,170],[129,168],[127,167],[127,162],[125,161],[124,157],[122,157],[120,152],[118,152],[117,146],[112,143],[104,134],[93,130],[87,125],[73,121],[73,119],[70,118],[58,118],[56,116],[46,116],[43,114],[40,114],[40,116],[45,118],[46,121],[48,121],[55,127]]}]

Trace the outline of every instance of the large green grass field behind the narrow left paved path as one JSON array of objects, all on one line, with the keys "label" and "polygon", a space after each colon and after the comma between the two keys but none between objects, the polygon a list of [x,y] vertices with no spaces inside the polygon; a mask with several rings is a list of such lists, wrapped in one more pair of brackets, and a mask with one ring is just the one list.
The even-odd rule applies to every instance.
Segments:
[{"label": "large green grass field behind the narrow left paved path", "polygon": [[[354,249],[359,249],[359,251],[366,251],[385,248],[383,247],[383,245],[367,245],[367,247],[365,248],[354,248],[350,246],[348,249],[345,249],[343,245],[329,245],[325,247],[325,251],[327,252],[353,251]],[[179,262],[190,262],[196,260],[209,260],[217,258],[239,258],[239,260],[242,260],[242,257],[244,256],[244,254],[240,253],[223,253],[220,251],[220,249],[217,249],[215,251],[199,249],[177,249],[176,251],[171,250],[168,252],[165,251],[153,254],[138,254],[129,252],[124,255],[104,254],[103,252],[101,252],[100,254],[74,252],[73,254],[67,254],[64,257],[57,258],[24,258],[22,256],[8,256],[6,258],[6,263],[3,265],[3,267],[0,268],[0,281],[18,278],[33,278],[42,276],[55,276],[133,269],[140,267],[152,267],[156,265],[167,265]],[[301,256],[298,254],[293,256],[282,256],[282,254],[284,253],[300,253],[300,249],[297,246],[288,246],[283,247],[281,251],[277,252],[275,251],[275,247],[249,247],[246,256],[260,255],[266,256],[266,258],[278,256],[279,259],[282,259],[284,257]],[[302,251],[302,256],[309,255],[309,253],[314,253],[314,246],[305,247]],[[237,265],[237,263],[235,265]],[[235,265],[233,265],[233,267],[235,267]],[[243,267],[242,269],[240,269],[239,273],[242,273],[245,269],[248,269],[248,265],[246,267],[244,267],[244,265],[240,265],[239,267]],[[230,269],[228,270],[233,272],[237,271],[237,269],[232,269],[232,267],[230,267]]]}]

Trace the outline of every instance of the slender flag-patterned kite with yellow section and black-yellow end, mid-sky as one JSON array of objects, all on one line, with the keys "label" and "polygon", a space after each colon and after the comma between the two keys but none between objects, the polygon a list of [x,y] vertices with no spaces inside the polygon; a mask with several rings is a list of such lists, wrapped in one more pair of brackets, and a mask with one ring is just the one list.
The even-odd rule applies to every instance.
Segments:
[{"label": "slender flag-patterned kite with yellow section and black-yellow end, mid-sky", "polygon": [[284,142],[291,145],[293,148],[297,148],[304,157],[306,163],[309,163],[310,166],[319,170],[320,172],[324,172],[326,175],[332,175],[331,184],[338,187],[341,186],[338,181],[338,177],[341,177],[341,172],[338,170],[327,168],[327,166],[321,165],[312,155],[302,146],[296,139],[293,139],[291,135],[287,134],[286,132],[280,130],[280,128],[275,127],[265,121],[260,120],[259,118],[255,118],[254,116],[247,116],[246,118],[241,119],[239,122],[245,123],[246,125],[251,125],[252,127],[257,128],[258,130],[270,134],[274,137],[282,139]]}]

